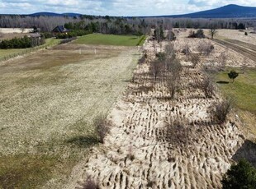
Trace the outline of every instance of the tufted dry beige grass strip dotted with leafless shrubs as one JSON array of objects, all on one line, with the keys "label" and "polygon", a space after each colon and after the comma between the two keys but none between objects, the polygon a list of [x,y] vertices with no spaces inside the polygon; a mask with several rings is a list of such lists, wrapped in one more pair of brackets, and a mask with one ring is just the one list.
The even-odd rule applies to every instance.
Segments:
[{"label": "tufted dry beige grass strip dotted with leafless shrubs", "polygon": [[[180,37],[175,42],[176,50],[180,52],[188,44],[196,52],[198,40]],[[163,46],[146,44],[147,53],[151,52],[149,58]],[[212,61],[218,64],[217,55],[225,48],[215,47],[210,57],[201,58],[201,65]],[[228,51],[227,56],[230,65],[242,65],[235,53]],[[201,90],[193,87],[203,73],[199,67],[190,67],[182,53],[178,57],[185,69],[176,99],[166,99],[169,94],[163,82],[152,83],[147,63],[139,65],[135,82],[130,83],[108,117],[114,125],[105,144],[94,148],[88,162],[73,170],[65,188],[82,188],[88,176],[102,188],[221,187],[221,177],[244,144],[244,136],[239,122],[232,117],[222,125],[214,122],[211,111],[221,96],[216,93],[206,99]],[[177,142],[165,137],[168,122],[173,121],[183,126],[173,132]],[[187,134],[179,135],[183,132]]]}]

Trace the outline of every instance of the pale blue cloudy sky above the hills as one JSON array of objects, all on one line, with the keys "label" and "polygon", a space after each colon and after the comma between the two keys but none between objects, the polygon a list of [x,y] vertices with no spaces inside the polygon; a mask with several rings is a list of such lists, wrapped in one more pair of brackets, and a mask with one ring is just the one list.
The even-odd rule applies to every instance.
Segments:
[{"label": "pale blue cloudy sky above the hills", "polygon": [[256,0],[0,0],[0,13],[76,12],[101,16],[155,16],[198,12],[227,4],[256,7]]}]

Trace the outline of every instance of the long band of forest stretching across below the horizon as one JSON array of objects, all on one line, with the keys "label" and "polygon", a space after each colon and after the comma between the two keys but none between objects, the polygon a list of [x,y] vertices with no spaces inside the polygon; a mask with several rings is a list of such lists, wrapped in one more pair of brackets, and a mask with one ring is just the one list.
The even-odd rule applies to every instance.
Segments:
[{"label": "long band of forest stretching across below the horizon", "polygon": [[56,25],[65,25],[67,28],[90,30],[104,34],[146,34],[151,28],[162,25],[164,30],[170,28],[210,29],[214,25],[217,29],[244,30],[256,27],[253,19],[225,18],[225,19],[192,19],[168,17],[114,17],[114,16],[0,16],[2,28],[40,28],[47,32]]}]

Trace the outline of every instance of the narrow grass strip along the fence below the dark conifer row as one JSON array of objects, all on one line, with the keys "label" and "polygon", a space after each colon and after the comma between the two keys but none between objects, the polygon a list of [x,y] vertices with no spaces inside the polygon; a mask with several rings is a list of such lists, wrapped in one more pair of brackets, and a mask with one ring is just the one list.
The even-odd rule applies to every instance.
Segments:
[{"label": "narrow grass strip along the fence below the dark conifer row", "polygon": [[[59,43],[59,39],[46,39],[45,44],[36,48],[45,48],[53,46]],[[34,48],[11,48],[11,49],[0,49],[0,60],[1,58],[12,58],[25,53],[30,53]]]}]

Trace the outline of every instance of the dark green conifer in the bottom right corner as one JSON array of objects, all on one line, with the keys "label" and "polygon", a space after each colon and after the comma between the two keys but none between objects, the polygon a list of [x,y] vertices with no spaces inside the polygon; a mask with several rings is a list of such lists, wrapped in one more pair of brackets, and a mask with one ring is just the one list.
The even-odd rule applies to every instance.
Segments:
[{"label": "dark green conifer in the bottom right corner", "polygon": [[240,159],[238,164],[231,165],[222,181],[224,189],[256,188],[256,168],[245,159]]}]

